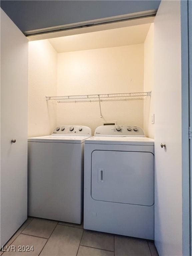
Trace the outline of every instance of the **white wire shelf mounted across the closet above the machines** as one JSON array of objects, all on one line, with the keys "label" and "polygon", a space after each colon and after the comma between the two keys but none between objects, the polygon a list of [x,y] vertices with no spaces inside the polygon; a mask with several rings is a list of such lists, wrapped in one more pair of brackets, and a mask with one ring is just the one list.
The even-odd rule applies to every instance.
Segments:
[{"label": "white wire shelf mounted across the closet above the machines", "polygon": [[141,100],[146,96],[151,96],[151,92],[131,92],[113,94],[90,94],[71,96],[46,96],[46,100],[56,100],[62,102],[91,102],[91,101],[115,101],[115,100]]}]

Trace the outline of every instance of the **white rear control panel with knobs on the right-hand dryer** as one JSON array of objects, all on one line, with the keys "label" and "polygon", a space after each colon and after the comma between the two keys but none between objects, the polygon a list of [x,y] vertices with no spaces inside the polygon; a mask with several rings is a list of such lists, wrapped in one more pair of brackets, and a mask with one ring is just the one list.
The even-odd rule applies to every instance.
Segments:
[{"label": "white rear control panel with knobs on the right-hand dryer", "polygon": [[143,129],[135,125],[102,125],[96,128],[95,136],[145,137]]}]

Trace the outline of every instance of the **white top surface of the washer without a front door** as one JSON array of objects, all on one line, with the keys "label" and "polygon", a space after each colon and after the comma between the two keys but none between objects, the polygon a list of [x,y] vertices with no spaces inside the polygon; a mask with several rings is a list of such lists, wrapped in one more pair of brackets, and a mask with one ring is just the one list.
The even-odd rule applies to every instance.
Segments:
[{"label": "white top surface of the washer without a front door", "polygon": [[50,135],[28,138],[28,142],[83,143],[90,136]]}]

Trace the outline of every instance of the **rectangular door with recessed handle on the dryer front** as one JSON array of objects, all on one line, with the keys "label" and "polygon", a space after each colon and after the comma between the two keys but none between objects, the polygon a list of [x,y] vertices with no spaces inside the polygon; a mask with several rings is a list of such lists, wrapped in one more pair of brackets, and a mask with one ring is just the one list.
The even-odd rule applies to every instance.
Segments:
[{"label": "rectangular door with recessed handle on the dryer front", "polygon": [[154,155],[149,152],[92,152],[91,196],[95,200],[154,204]]}]

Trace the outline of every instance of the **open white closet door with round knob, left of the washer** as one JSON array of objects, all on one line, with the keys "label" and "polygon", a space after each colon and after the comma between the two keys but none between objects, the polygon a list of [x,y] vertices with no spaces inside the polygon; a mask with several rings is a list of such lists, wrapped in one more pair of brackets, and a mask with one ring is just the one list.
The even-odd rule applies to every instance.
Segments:
[{"label": "open white closet door with round knob, left of the washer", "polygon": [[1,9],[0,247],[27,219],[27,99],[28,39]]}]

